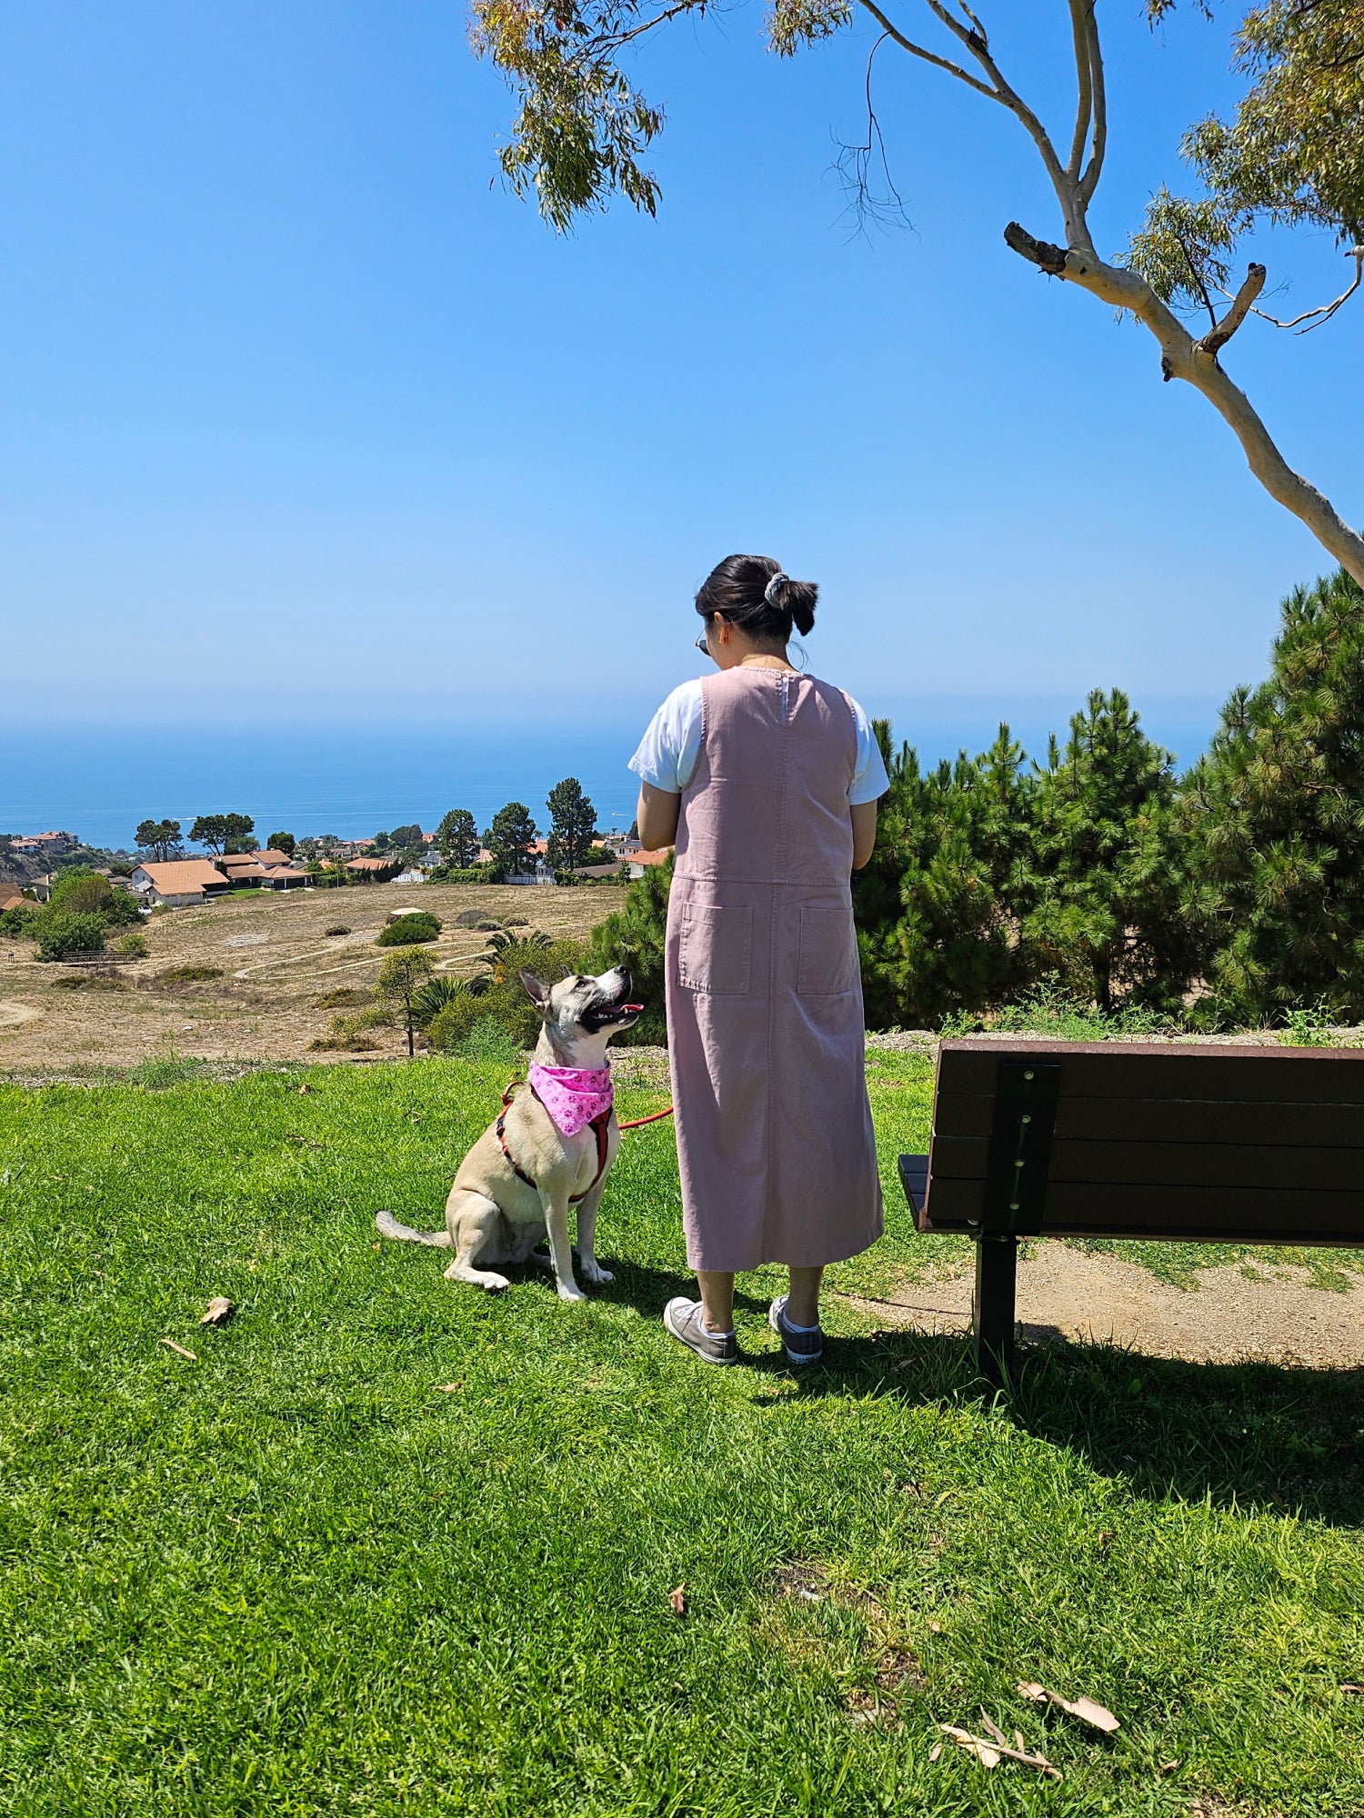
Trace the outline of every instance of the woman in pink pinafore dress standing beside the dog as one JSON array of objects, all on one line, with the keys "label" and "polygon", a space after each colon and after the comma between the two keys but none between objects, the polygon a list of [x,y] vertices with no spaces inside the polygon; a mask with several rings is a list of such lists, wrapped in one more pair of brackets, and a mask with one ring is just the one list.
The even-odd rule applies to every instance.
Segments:
[{"label": "woman in pink pinafore dress standing beside the dog", "polygon": [[826,1264],[882,1233],[849,878],[889,787],[866,714],[786,647],[818,589],[727,556],[697,594],[718,674],[675,689],[629,767],[646,847],[677,842],[667,1027],[687,1264],[700,1302],[667,1331],[738,1356],[735,1273],[789,1264],[769,1324],[793,1364],[822,1349]]}]

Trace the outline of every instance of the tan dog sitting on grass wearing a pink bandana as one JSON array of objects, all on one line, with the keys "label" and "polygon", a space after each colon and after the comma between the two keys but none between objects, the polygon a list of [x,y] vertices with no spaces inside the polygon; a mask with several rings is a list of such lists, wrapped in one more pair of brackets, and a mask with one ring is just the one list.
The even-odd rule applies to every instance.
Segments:
[{"label": "tan dog sitting on grass wearing a pink bandana", "polygon": [[[531,1078],[504,1100],[502,1116],[460,1164],[446,1200],[446,1229],[413,1231],[391,1213],[376,1213],[375,1224],[386,1238],[455,1251],[446,1280],[491,1293],[511,1285],[498,1271],[526,1262],[547,1233],[558,1298],[586,1300],[573,1276],[569,1205],[578,1209],[582,1278],[600,1287],[611,1274],[597,1262],[597,1207],[620,1147],[606,1044],[633,1027],[644,1005],[629,1002],[624,965],[557,985],[533,973],[522,973],[520,982],[540,1016]],[[582,1073],[597,1078],[566,1078]],[[597,1114],[584,1122],[589,1111]]]}]

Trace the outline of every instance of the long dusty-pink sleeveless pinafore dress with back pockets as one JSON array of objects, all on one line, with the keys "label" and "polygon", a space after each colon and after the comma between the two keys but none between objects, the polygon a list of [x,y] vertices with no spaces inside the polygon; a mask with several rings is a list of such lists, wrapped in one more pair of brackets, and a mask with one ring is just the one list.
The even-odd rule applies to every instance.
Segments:
[{"label": "long dusty-pink sleeveless pinafore dress with back pockets", "polygon": [[840,1262],[882,1233],[847,789],[857,722],[813,676],[707,676],[667,904],[693,1269]]}]

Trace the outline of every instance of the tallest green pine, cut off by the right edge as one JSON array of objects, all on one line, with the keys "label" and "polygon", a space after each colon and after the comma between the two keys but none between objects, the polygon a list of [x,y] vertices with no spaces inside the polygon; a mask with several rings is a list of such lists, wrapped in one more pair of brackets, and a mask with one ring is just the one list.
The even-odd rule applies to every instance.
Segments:
[{"label": "tallest green pine, cut off by the right edge", "polygon": [[1284,600],[1269,678],[1231,694],[1182,809],[1200,1018],[1364,1020],[1364,589],[1342,569]]}]

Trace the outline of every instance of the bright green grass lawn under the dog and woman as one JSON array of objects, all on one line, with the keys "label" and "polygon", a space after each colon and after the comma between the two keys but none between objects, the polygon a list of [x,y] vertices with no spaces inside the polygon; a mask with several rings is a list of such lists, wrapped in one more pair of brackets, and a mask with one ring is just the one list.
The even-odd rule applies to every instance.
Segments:
[{"label": "bright green grass lawn under the dog and woman", "polygon": [[[1062,1347],[991,1405],[962,1340],[837,1298],[797,1378],[777,1271],[706,1369],[658,1322],[667,1125],[575,1307],[373,1231],[438,1224],[504,1069],[173,1076],[0,1087],[5,1813],[1364,1809],[1357,1378]],[[889,1185],[929,1073],[871,1082]],[[837,1285],[958,1254],[888,1207]],[[929,1762],[982,1703],[1064,1780]]]}]

